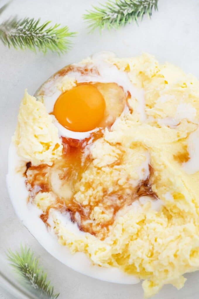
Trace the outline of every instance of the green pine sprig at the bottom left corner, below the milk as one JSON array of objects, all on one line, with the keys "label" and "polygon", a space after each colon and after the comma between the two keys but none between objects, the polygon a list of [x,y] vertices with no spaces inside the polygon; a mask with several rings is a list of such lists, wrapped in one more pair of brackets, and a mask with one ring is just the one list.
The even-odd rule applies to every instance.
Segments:
[{"label": "green pine sprig at the bottom left corner, below the milk", "polygon": [[15,269],[19,277],[36,291],[38,298],[56,299],[59,294],[54,294],[54,288],[47,281],[47,274],[43,268],[38,266],[38,259],[34,257],[34,252],[21,245],[20,252],[8,251],[7,254],[10,265]]}]

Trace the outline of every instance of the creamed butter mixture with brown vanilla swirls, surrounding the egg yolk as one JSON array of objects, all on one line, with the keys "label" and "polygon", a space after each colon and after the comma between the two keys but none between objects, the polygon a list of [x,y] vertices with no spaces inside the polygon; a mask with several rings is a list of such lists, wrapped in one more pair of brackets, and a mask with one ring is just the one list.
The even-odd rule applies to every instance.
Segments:
[{"label": "creamed butter mixture with brown vanilla swirls, surrounding the egg yolk", "polygon": [[[164,284],[180,289],[183,274],[199,269],[199,82],[149,54],[100,59],[101,68],[124,74],[140,93],[124,89],[124,111],[91,138],[58,136],[44,91],[40,102],[25,93],[14,142],[30,162],[29,201],[61,245],[139,277],[146,297]],[[88,82],[90,74],[90,84],[93,76],[101,82],[98,65],[93,57],[62,71],[58,89],[76,86],[79,78]],[[78,233],[57,211],[77,223]]]}]

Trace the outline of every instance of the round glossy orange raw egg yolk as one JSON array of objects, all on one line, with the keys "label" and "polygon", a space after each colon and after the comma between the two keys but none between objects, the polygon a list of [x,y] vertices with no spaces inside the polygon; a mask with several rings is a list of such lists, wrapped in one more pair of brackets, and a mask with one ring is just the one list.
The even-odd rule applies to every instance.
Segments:
[{"label": "round glossy orange raw egg yolk", "polygon": [[91,84],[76,86],[61,94],[53,114],[58,122],[74,132],[95,129],[104,117],[105,100]]}]

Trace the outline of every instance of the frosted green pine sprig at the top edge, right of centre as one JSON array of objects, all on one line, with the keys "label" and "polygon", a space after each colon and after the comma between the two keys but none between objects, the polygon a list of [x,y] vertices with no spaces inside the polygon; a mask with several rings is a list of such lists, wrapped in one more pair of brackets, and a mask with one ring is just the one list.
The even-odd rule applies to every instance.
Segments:
[{"label": "frosted green pine sprig at the top edge, right of centre", "polygon": [[106,26],[108,29],[118,28],[132,21],[137,23],[145,14],[151,17],[153,8],[158,10],[157,3],[158,0],[109,0],[100,7],[87,10],[83,18],[91,31],[97,27],[100,30]]}]

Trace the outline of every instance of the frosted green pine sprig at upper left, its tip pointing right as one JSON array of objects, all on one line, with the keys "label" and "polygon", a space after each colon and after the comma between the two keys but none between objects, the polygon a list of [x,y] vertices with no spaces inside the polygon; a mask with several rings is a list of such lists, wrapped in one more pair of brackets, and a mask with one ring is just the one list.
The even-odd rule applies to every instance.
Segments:
[{"label": "frosted green pine sprig at upper left, its tip pointing right", "polygon": [[47,49],[58,54],[66,52],[72,44],[69,38],[75,36],[75,32],[69,32],[67,26],[60,27],[60,24],[49,27],[50,23],[40,24],[40,19],[30,18],[8,19],[0,24],[0,40],[9,48],[38,49],[43,53]]}]

